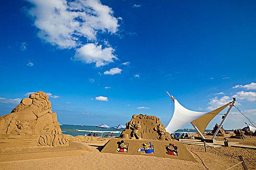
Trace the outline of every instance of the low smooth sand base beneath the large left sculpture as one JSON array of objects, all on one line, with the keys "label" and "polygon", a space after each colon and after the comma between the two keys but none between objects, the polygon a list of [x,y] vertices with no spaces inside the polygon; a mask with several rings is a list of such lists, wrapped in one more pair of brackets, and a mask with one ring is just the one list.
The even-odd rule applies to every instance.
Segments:
[{"label": "low smooth sand base beneath the large left sculpture", "polygon": [[19,161],[29,159],[76,156],[82,155],[83,151],[91,151],[81,143],[70,141],[67,146],[60,147],[22,147],[0,150],[0,162]]}]

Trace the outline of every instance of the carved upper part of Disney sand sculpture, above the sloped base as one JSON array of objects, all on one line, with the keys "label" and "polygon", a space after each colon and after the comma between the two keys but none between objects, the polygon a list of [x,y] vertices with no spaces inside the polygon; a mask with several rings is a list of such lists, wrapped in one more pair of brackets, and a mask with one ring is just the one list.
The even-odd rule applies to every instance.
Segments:
[{"label": "carved upper part of Disney sand sculpture, above the sloped base", "polygon": [[120,135],[123,139],[157,139],[171,140],[171,135],[166,132],[165,126],[155,116],[133,115],[126,123],[126,129]]}]

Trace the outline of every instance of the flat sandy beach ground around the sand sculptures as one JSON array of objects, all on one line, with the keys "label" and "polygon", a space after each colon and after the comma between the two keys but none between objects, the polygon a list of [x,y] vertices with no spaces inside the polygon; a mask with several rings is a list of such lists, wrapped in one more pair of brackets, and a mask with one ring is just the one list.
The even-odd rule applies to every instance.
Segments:
[{"label": "flat sandy beach ground around the sand sculptures", "polygon": [[[64,156],[55,158],[1,162],[0,167],[2,170],[226,170],[239,163],[238,160],[231,158],[223,153],[217,152],[210,147],[207,147],[208,152],[205,153],[204,146],[189,144],[184,145],[194,155],[197,162],[152,156],[101,153],[99,149],[108,141],[108,138],[93,137],[93,140],[90,143],[90,137],[76,136],[74,137],[73,141],[87,146],[91,152],[83,151],[83,155],[79,156]],[[244,142],[247,142],[247,144],[250,145],[255,145],[256,139],[249,138],[245,139]],[[48,148],[50,149],[50,147]],[[242,155],[248,169],[255,169],[256,150],[235,147],[216,147],[215,149],[230,154],[236,158],[238,158],[238,155]],[[21,150],[21,148],[17,149],[17,151],[18,150]],[[8,152],[8,149],[5,149],[1,152]],[[241,169],[242,165],[238,165],[232,170]]]}]

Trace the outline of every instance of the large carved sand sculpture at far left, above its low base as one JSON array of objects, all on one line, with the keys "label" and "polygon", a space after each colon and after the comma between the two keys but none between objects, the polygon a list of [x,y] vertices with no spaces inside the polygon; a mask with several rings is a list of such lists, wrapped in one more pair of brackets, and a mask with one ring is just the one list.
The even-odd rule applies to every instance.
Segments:
[{"label": "large carved sand sculpture at far left, above its low base", "polygon": [[0,148],[68,145],[51,109],[49,97],[42,91],[21,100],[11,113],[0,117]]}]

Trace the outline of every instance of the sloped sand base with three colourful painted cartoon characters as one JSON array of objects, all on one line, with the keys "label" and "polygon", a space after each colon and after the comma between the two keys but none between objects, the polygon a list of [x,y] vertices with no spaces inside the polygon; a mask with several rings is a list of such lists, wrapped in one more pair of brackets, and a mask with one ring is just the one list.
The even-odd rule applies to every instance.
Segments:
[{"label": "sloped sand base with three colourful painted cartoon characters", "polygon": [[177,140],[160,141],[112,138],[103,146],[101,152],[166,157],[196,162],[192,153]]}]

